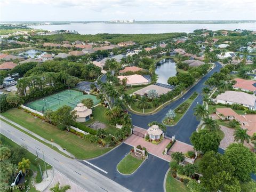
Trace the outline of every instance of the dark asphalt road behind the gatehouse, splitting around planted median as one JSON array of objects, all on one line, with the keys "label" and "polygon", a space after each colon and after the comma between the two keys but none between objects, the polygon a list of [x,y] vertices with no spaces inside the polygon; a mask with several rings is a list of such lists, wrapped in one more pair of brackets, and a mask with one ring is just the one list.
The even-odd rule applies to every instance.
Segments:
[{"label": "dark asphalt road behind the gatehouse, splitting around planted median", "polygon": [[175,109],[178,107],[182,102],[186,101],[194,92],[199,93],[198,97],[192,103],[191,107],[188,109],[187,113],[180,119],[177,125],[175,126],[168,126],[166,134],[168,137],[172,137],[175,135],[175,138],[179,141],[190,143],[189,137],[190,135],[196,130],[199,121],[197,121],[196,117],[194,116],[193,108],[197,105],[197,103],[203,102],[203,95],[202,89],[205,86],[204,82],[215,72],[218,72],[221,68],[220,63],[215,63],[216,66],[212,69],[207,75],[205,75],[196,85],[194,85],[187,93],[183,95],[182,98],[173,101],[170,105],[164,107],[161,111],[158,111],[156,114],[153,115],[132,115],[132,123],[135,126],[141,127],[143,129],[148,129],[148,123],[157,121],[162,122],[165,118],[165,114],[170,109]]}]

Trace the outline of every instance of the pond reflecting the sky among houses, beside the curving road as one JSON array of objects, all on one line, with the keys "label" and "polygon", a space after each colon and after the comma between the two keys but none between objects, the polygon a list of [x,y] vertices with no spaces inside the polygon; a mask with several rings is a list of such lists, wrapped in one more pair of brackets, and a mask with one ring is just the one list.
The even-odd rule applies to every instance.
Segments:
[{"label": "pond reflecting the sky among houses, beside the curving road", "polygon": [[156,65],[157,83],[168,84],[169,77],[176,76],[176,66],[173,59],[163,59]]}]

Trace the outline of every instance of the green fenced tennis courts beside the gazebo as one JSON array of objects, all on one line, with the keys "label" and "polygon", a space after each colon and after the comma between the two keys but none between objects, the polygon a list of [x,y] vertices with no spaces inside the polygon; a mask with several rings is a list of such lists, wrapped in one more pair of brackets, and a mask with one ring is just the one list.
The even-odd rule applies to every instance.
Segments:
[{"label": "green fenced tennis courts beside the gazebo", "polygon": [[76,107],[77,103],[80,103],[83,99],[90,98],[93,100],[93,105],[97,105],[100,101],[94,95],[83,94],[80,91],[75,90],[65,90],[59,93],[52,94],[48,97],[38,99],[26,103],[26,106],[44,113],[45,110],[57,110],[62,106],[70,106],[73,109]]}]

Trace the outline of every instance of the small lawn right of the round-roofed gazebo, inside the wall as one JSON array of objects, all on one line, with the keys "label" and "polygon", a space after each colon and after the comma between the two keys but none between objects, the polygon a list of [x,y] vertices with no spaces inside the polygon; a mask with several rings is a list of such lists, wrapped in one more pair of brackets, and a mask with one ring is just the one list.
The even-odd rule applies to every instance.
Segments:
[{"label": "small lawn right of the round-roofed gazebo, inside the wall", "polygon": [[93,111],[92,117],[93,118],[91,118],[89,121],[84,122],[82,124],[88,126],[88,125],[91,125],[92,123],[98,121],[100,123],[104,123],[107,126],[106,131],[108,133],[114,134],[118,129],[115,126],[110,125],[108,123],[108,120],[104,117],[104,112],[106,109],[107,108],[103,107],[103,106],[97,106],[97,107],[92,108],[92,111]]}]

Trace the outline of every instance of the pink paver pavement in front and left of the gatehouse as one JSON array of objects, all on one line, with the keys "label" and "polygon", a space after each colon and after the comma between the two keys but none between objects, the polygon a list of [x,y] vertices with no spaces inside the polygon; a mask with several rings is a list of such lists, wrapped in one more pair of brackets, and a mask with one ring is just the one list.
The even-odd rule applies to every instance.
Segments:
[{"label": "pink paver pavement in front and left of the gatehouse", "polygon": [[138,145],[141,145],[141,147],[146,147],[148,153],[155,155],[159,158],[162,158],[167,162],[171,161],[171,156],[163,155],[163,151],[169,142],[170,140],[163,139],[161,143],[159,143],[158,145],[155,145],[148,141],[145,141],[144,138],[138,137],[137,135],[134,135],[134,134],[132,134],[129,138],[127,138],[124,141],[124,143],[130,146],[137,147]]}]

